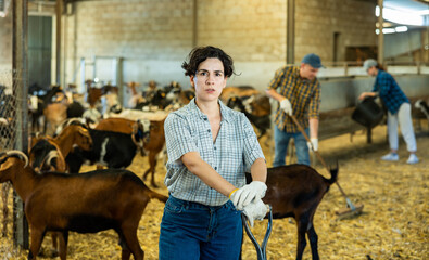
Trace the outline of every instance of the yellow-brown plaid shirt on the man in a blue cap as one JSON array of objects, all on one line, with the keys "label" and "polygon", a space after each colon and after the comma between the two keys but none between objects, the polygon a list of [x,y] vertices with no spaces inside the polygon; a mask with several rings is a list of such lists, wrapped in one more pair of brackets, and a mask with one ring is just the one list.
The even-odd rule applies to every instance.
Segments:
[{"label": "yellow-brown plaid shirt on the man in a blue cap", "polygon": [[[280,88],[279,90],[277,90]],[[292,104],[293,115],[305,129],[308,127],[308,118],[318,118],[320,106],[320,83],[317,78],[306,80],[300,76],[300,67],[285,66],[279,68],[268,89],[275,89],[286,96]],[[292,118],[277,107],[274,121],[280,130],[298,132],[299,129]]]}]

